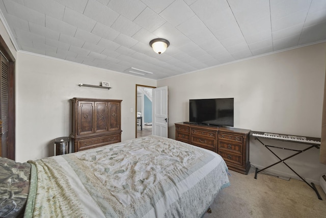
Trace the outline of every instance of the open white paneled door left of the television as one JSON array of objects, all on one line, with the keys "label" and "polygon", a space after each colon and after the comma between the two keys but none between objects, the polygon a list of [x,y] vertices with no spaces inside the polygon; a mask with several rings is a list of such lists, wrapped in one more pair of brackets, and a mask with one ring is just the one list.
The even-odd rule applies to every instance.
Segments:
[{"label": "open white paneled door left of the television", "polygon": [[168,86],[154,88],[152,134],[168,137]]}]

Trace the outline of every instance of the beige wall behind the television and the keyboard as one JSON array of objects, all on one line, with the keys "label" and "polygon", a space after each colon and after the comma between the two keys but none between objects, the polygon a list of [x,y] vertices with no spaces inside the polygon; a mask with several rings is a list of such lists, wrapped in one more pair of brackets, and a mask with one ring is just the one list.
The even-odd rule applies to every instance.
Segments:
[{"label": "beige wall behind the television and the keyboard", "polygon": [[[319,43],[157,81],[158,87],[169,86],[169,137],[175,137],[174,123],[188,120],[188,100],[202,98],[234,98],[237,128],[320,137],[325,48],[326,43]],[[281,157],[293,154],[278,152]],[[257,140],[250,140],[252,164],[263,168],[276,160]],[[318,183],[326,173],[318,160],[319,150],[312,149],[287,162]],[[283,163],[272,169],[297,178]]]}]

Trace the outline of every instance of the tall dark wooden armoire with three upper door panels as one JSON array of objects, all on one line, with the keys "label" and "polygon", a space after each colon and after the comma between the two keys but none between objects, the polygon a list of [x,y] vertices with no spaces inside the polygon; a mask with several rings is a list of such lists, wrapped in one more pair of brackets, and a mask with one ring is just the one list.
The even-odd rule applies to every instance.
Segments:
[{"label": "tall dark wooden armoire with three upper door panels", "polygon": [[71,140],[74,152],[121,141],[121,102],[73,98]]}]

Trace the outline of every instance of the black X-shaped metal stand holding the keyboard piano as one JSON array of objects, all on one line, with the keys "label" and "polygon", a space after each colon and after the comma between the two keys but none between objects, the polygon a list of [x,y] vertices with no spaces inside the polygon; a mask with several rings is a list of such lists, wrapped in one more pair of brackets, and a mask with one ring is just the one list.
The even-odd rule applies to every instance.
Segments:
[{"label": "black X-shaped metal stand holding the keyboard piano", "polygon": [[[320,146],[319,145],[311,145],[310,147],[308,147],[308,148],[306,148],[306,149],[304,149],[304,150],[294,150],[294,149],[288,149],[288,148],[282,148],[282,147],[275,147],[275,146],[268,146],[267,144],[264,144],[261,140],[259,140],[258,138],[256,138],[255,137],[255,139],[256,140],[258,140],[266,149],[268,149],[268,151],[270,151],[271,153],[273,153],[278,159],[279,159],[279,161],[278,162],[276,162],[276,163],[273,163],[273,164],[271,164],[271,165],[269,165],[269,166],[266,166],[265,168],[263,168],[263,169],[258,169],[257,167],[256,167],[256,172],[255,172],[255,179],[257,179],[257,174],[259,173],[259,172],[261,172],[261,171],[264,171],[265,169],[267,169],[267,168],[269,168],[269,167],[271,167],[271,166],[274,166],[274,165],[276,165],[276,164],[278,164],[278,163],[281,163],[281,162],[283,162],[289,169],[291,169],[291,171],[293,172],[293,173],[295,173],[298,177],[300,177],[305,183],[307,183],[315,192],[316,192],[316,195],[317,195],[317,197],[318,197],[318,199],[319,200],[322,200],[321,199],[321,197],[320,197],[320,195],[319,195],[319,192],[318,192],[318,190],[317,190],[317,188],[316,188],[316,186],[315,186],[315,184],[314,183],[311,183],[311,184],[309,184],[304,178],[302,178],[300,175],[298,175],[288,164],[286,164],[284,161],[285,160],[287,160],[287,159],[289,159],[289,158],[291,158],[291,157],[294,157],[294,156],[296,156],[296,155],[298,155],[298,154],[301,154],[301,153],[303,153],[303,152],[305,152],[305,151],[307,151],[307,150],[309,150],[309,149],[311,149],[311,148],[316,148],[316,149],[319,149],[320,148]],[[270,139],[272,139],[272,138],[270,138]],[[286,142],[291,142],[291,141],[286,141]],[[294,142],[295,143],[295,142]],[[293,154],[293,155],[290,155],[290,156],[288,156],[288,157],[286,157],[286,158],[284,158],[284,159],[281,159],[279,156],[277,156],[273,151],[271,151],[269,148],[276,148],[276,149],[283,149],[283,150],[290,150],[290,151],[294,151],[294,152],[296,152],[295,154]]]}]

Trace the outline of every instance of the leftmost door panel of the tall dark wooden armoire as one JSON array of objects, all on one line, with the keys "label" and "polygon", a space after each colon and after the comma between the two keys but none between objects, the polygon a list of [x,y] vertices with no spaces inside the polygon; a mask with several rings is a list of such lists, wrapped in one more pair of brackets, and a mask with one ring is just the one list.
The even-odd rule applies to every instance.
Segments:
[{"label": "leftmost door panel of the tall dark wooden armoire", "polygon": [[79,122],[78,135],[93,133],[93,107],[92,102],[79,103]]}]

